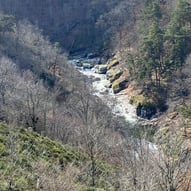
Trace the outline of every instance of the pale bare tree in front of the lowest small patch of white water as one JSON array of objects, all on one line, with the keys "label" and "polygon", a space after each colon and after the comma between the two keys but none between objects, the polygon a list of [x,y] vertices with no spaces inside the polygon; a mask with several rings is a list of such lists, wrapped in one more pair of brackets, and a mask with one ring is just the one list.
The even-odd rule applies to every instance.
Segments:
[{"label": "pale bare tree in front of the lowest small patch of white water", "polygon": [[145,139],[128,137],[119,145],[122,172],[120,190],[158,191],[153,163],[155,148]]}]

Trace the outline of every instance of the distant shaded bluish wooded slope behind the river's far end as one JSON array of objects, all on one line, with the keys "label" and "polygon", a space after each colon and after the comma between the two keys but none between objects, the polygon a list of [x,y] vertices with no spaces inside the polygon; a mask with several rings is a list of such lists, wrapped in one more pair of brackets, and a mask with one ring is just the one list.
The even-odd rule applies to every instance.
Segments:
[{"label": "distant shaded bluish wooded slope behind the river's far end", "polygon": [[0,0],[0,11],[28,19],[68,52],[90,52],[109,48],[136,1]]}]

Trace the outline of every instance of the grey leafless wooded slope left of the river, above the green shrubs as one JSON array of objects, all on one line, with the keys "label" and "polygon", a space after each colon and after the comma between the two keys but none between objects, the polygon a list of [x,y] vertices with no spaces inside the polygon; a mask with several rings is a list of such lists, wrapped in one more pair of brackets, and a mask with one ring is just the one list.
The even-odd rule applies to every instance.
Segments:
[{"label": "grey leafless wooded slope left of the river, above the green shrubs", "polygon": [[112,126],[108,107],[92,95],[89,80],[67,63],[57,44],[27,22],[1,19],[13,22],[0,32],[1,120],[75,145],[82,144],[88,124]]}]

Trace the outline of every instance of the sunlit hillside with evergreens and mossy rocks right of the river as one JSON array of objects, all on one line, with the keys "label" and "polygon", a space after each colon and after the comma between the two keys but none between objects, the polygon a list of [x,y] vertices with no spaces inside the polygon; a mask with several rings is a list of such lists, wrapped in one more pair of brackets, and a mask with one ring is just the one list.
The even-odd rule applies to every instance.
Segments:
[{"label": "sunlit hillside with evergreens and mossy rocks right of the river", "polygon": [[185,121],[181,107],[190,107],[190,3],[153,0],[136,4],[134,24],[123,25],[114,59],[108,63],[108,75],[122,73],[111,78],[114,91],[115,87],[126,89],[137,115],[155,118],[155,122],[159,117],[159,127],[173,112]]}]

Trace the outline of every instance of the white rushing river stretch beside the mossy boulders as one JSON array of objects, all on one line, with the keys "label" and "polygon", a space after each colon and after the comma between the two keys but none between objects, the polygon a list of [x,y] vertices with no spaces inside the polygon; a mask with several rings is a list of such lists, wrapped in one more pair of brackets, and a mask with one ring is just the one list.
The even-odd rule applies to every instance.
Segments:
[{"label": "white rushing river stretch beside the mossy boulders", "polygon": [[[89,62],[89,59],[81,59],[80,62]],[[71,64],[76,65],[79,63],[79,59],[69,60]],[[100,97],[109,107],[112,108],[114,114],[123,116],[126,121],[131,124],[135,124],[138,120],[136,116],[136,109],[129,103],[129,98],[126,94],[119,92],[114,94],[112,88],[109,88],[109,80],[107,80],[105,74],[95,73],[94,68],[83,69],[79,67],[79,71],[88,78],[92,79],[93,94]]]}]

